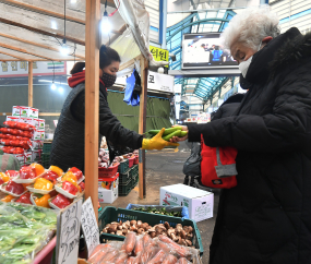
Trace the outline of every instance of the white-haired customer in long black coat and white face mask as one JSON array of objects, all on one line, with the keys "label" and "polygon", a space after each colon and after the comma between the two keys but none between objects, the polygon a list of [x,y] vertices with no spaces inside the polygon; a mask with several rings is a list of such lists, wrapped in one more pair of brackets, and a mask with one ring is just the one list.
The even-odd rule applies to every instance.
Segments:
[{"label": "white-haired customer in long black coat and white face mask", "polygon": [[248,92],[232,116],[188,128],[191,142],[203,134],[238,149],[210,264],[311,263],[311,34],[279,34],[277,16],[259,8],[237,14],[223,38]]}]

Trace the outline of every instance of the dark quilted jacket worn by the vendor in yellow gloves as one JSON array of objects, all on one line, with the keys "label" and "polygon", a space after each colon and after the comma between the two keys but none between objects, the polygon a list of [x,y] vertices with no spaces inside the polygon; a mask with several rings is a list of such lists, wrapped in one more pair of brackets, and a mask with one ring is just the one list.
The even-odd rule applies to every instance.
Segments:
[{"label": "dark quilted jacket worn by the vendor in yellow gloves", "polygon": [[[51,165],[63,170],[76,167],[84,171],[84,109],[85,84],[81,83],[69,93],[63,104],[51,146]],[[142,147],[143,136],[122,127],[108,106],[105,86],[99,83],[99,141],[101,136],[106,136],[113,145],[134,149]],[[108,147],[112,159],[109,144]]]}]

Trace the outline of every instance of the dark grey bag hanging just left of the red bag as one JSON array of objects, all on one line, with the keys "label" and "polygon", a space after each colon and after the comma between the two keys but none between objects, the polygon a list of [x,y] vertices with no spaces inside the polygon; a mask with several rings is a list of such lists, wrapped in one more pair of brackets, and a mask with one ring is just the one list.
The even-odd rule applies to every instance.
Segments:
[{"label": "dark grey bag hanging just left of the red bag", "polygon": [[182,172],[187,176],[201,176],[201,144],[193,143],[191,154],[183,165]]}]

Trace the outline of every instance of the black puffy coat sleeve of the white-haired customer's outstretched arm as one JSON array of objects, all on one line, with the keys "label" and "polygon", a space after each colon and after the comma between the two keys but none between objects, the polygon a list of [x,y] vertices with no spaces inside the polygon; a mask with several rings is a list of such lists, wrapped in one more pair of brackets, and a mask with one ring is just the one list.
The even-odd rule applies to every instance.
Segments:
[{"label": "black puffy coat sleeve of the white-haired customer's outstretched arm", "polygon": [[308,69],[300,71],[304,73],[292,72],[279,83],[272,113],[234,116],[190,127],[189,141],[198,141],[202,133],[212,147],[270,153],[303,149],[311,134],[311,75]]}]

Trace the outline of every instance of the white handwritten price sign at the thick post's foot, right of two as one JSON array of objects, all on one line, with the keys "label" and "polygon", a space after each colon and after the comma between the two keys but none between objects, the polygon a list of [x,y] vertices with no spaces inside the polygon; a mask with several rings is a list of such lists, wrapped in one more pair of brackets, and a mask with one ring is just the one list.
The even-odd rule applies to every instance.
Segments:
[{"label": "white handwritten price sign at the thick post's foot, right of two", "polygon": [[99,244],[99,229],[91,197],[82,205],[81,225],[89,256],[96,245]]}]

